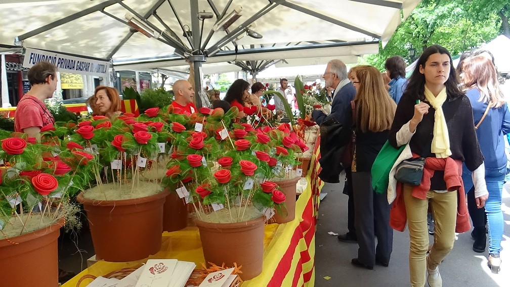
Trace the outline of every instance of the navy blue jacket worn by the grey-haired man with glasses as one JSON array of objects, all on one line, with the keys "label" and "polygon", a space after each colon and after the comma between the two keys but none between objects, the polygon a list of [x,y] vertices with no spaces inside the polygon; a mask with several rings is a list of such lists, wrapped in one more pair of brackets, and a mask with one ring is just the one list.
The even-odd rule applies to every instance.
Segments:
[{"label": "navy blue jacket worn by the grey-haired man with glasses", "polygon": [[312,112],[312,118],[318,125],[320,125],[326,119],[335,117],[339,123],[350,127],[352,125],[352,119],[350,118],[349,113],[349,110],[351,109],[350,101],[354,99],[355,94],[356,89],[354,88],[354,85],[352,85],[351,82],[347,83],[347,85],[343,86],[333,98],[333,102],[331,103],[331,113],[326,115],[322,111],[315,110]]}]

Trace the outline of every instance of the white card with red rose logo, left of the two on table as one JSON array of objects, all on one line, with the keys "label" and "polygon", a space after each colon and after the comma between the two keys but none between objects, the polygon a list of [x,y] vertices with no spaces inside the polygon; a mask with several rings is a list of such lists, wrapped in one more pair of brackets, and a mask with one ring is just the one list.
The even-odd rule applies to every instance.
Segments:
[{"label": "white card with red rose logo, left of the two on table", "polygon": [[172,279],[177,259],[148,259],[136,287],[166,287]]}]

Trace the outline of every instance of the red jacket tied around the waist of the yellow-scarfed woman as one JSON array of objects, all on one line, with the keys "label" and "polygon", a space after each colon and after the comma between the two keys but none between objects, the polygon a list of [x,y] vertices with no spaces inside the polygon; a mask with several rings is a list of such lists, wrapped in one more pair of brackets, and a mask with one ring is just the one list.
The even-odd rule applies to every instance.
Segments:
[{"label": "red jacket tied around the waist of the yellow-scarfed woman", "polygon": [[[430,178],[436,170],[444,170],[444,180],[446,189],[449,192],[457,191],[457,219],[455,232],[462,233],[471,229],[469,223],[468,207],[466,205],[466,194],[464,193],[464,184],[462,182],[462,162],[451,158],[437,159],[426,158],[423,169],[423,178],[419,186],[413,187],[412,195],[419,199],[426,199],[427,192],[430,190]],[[390,211],[390,226],[398,231],[404,231],[407,221],[405,212],[404,197],[402,195],[403,186],[397,182],[397,197],[393,201]]]}]

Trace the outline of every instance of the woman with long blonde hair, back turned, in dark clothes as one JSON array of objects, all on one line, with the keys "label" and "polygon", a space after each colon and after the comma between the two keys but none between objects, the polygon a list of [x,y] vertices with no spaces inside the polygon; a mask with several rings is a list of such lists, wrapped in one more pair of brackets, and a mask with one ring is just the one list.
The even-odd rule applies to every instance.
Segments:
[{"label": "woman with long blonde hair, back turned, in dark clothes", "polygon": [[[354,266],[373,269],[375,264],[387,267],[393,249],[393,230],[389,225],[390,205],[387,195],[376,194],[372,188],[371,169],[374,160],[388,139],[396,104],[386,90],[377,68],[356,66],[349,71],[356,88],[353,129],[355,157],[352,161],[354,225],[358,239],[358,257]],[[377,245],[375,244],[377,237]]]}]

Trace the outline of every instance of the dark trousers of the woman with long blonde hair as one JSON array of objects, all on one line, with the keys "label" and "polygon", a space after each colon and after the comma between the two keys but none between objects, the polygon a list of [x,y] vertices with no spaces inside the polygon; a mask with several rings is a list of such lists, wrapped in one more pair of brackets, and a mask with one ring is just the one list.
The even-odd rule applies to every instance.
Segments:
[{"label": "dark trousers of the woman with long blonde hair", "polygon": [[390,227],[387,194],[375,193],[370,172],[353,172],[352,184],[356,236],[360,246],[358,260],[367,266],[374,266],[376,260],[388,264],[393,250],[393,229]]}]

